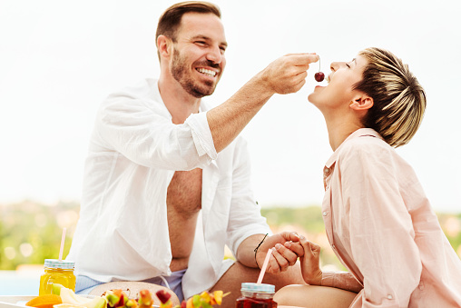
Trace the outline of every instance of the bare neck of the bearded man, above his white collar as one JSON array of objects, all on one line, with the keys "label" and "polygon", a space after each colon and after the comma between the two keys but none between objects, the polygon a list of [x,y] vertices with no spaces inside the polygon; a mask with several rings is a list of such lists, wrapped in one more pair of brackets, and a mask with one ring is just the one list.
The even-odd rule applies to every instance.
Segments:
[{"label": "bare neck of the bearded man, above his white collar", "polygon": [[182,124],[191,114],[199,113],[201,99],[188,94],[176,80],[159,79],[163,103],[172,114],[173,124]]}]

